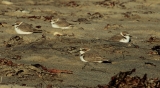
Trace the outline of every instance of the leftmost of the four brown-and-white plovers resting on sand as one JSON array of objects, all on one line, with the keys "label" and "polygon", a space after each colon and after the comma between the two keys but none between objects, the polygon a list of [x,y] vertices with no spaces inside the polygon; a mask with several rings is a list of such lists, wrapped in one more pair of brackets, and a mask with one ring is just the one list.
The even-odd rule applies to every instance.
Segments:
[{"label": "leftmost of the four brown-and-white plovers resting on sand", "polygon": [[14,24],[15,31],[18,34],[32,34],[32,33],[42,33],[42,30],[37,30],[32,27],[32,24],[27,24],[24,22],[16,22]]}]

